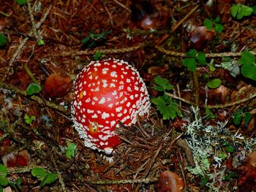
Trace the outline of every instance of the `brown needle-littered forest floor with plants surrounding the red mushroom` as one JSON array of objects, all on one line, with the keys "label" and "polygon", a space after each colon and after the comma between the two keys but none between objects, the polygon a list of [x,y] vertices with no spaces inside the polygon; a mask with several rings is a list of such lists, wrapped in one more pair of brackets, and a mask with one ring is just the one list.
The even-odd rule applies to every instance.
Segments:
[{"label": "brown needle-littered forest floor with plants surrounding the red mushroom", "polygon": [[[0,191],[256,190],[255,1],[0,0],[0,35]],[[107,58],[153,99],[111,155],[70,115]]]}]

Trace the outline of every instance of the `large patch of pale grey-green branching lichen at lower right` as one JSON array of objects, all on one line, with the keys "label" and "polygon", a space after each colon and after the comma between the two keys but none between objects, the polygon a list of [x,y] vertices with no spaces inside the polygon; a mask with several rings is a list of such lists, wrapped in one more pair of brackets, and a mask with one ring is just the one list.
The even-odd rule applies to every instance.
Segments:
[{"label": "large patch of pale grey-green branching lichen at lower right", "polygon": [[[217,126],[204,125],[199,115],[199,109],[197,107],[191,109],[194,120],[184,128],[187,128],[185,137],[193,152],[195,166],[188,166],[187,170],[200,177],[208,177],[209,181],[206,186],[211,191],[221,191],[226,174],[223,161],[230,155],[226,150],[226,145],[228,144],[233,149],[238,147],[241,149],[236,151],[239,154],[237,162],[239,166],[239,161],[243,161],[246,154],[252,152],[256,145],[256,139],[248,139],[239,132],[230,133],[227,128],[227,121],[218,122]],[[225,154],[225,158],[220,154]]]}]

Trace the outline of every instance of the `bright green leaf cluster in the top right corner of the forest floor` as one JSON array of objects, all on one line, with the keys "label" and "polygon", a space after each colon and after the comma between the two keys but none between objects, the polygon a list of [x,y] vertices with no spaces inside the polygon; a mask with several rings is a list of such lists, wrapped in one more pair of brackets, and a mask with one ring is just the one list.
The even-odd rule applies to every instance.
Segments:
[{"label": "bright green leaf cluster in the top right corner of the forest floor", "polygon": [[244,4],[233,4],[230,8],[230,13],[233,18],[241,19],[246,16],[252,15],[253,9],[252,7],[248,7]]}]

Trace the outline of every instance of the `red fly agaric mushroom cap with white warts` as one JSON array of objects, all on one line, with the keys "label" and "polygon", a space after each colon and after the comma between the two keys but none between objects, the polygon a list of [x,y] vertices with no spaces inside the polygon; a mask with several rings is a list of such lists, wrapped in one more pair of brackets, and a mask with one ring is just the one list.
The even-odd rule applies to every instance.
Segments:
[{"label": "red fly agaric mushroom cap with white warts", "polygon": [[91,61],[75,81],[71,114],[86,147],[112,153],[120,143],[118,122],[129,126],[148,115],[150,101],[138,71],[125,61]]}]

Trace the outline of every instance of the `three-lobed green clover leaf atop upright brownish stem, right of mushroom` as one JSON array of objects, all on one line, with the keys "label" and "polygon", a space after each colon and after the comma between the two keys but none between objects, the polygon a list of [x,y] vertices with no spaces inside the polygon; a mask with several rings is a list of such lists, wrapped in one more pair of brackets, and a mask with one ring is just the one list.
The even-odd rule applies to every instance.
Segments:
[{"label": "three-lobed green clover leaf atop upright brownish stem, right of mushroom", "polygon": [[187,53],[188,58],[182,60],[182,64],[189,69],[191,72],[195,72],[197,69],[197,64],[206,65],[206,54],[203,52],[198,52],[195,49],[189,50]]}]

